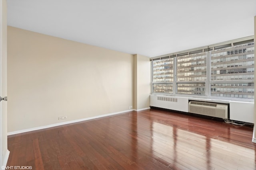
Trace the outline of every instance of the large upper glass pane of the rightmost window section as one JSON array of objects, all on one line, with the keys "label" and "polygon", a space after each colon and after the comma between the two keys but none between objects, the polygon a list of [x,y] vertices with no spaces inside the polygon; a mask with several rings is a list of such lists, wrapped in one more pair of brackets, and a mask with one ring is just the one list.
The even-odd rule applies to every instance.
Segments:
[{"label": "large upper glass pane of the rightmost window section", "polygon": [[[254,54],[250,50],[254,43],[247,43],[218,49],[211,52],[211,80],[248,80],[252,79]],[[223,55],[215,55],[222,53]],[[224,53],[225,52],[225,53]],[[216,61],[219,61],[216,63]]]}]

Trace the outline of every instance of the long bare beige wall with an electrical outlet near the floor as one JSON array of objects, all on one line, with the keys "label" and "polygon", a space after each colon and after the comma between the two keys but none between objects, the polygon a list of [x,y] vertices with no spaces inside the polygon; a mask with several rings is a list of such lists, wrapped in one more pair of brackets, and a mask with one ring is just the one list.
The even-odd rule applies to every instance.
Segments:
[{"label": "long bare beige wall with an electrical outlet near the floor", "polygon": [[128,110],[133,60],[130,54],[8,27],[8,132]]}]

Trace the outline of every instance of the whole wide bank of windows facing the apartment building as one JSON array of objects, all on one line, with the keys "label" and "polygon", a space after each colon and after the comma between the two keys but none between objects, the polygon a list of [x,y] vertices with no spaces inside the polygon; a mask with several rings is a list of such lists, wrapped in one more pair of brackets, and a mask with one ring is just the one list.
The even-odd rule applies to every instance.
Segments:
[{"label": "whole wide bank of windows facing the apartment building", "polygon": [[154,57],[152,94],[254,99],[253,39],[233,41]]}]

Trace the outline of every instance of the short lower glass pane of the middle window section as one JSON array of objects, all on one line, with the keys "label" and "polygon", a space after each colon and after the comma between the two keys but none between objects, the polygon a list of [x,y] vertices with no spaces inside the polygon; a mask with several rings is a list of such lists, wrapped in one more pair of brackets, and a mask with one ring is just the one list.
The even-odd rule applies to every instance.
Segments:
[{"label": "short lower glass pane of the middle window section", "polygon": [[177,93],[205,95],[205,83],[177,83]]}]

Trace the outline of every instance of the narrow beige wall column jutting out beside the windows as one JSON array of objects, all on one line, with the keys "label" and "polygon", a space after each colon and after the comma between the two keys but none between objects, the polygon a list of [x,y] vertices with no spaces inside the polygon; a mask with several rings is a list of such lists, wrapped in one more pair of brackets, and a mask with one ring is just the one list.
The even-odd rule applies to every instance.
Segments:
[{"label": "narrow beige wall column jutting out beside the windows", "polygon": [[134,55],[134,109],[149,107],[150,81],[150,59]]}]

